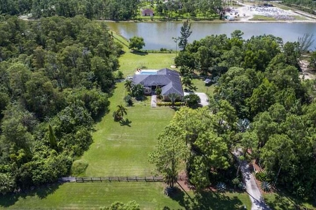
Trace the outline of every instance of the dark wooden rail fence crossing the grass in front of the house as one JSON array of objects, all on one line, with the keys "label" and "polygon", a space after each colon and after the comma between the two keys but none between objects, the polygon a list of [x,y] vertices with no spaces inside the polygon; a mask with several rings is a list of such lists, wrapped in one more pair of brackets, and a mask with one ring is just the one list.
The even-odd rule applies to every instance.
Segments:
[{"label": "dark wooden rail fence crossing the grass in front of the house", "polygon": [[[178,176],[178,180],[186,180],[187,176]],[[123,181],[147,181],[156,182],[163,181],[162,176],[158,177],[62,177],[58,179],[59,182],[123,182]]]}]

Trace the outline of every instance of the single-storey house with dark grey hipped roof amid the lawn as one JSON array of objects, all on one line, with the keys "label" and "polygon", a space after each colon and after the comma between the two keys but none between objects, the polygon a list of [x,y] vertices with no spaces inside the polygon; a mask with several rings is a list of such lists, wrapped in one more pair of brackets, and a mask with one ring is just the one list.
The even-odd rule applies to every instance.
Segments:
[{"label": "single-storey house with dark grey hipped roof amid the lawn", "polygon": [[170,93],[177,93],[182,100],[184,94],[182,90],[179,72],[163,68],[158,71],[143,70],[140,74],[134,74],[133,84],[142,84],[145,94],[152,94],[156,88],[161,88],[161,95],[164,100],[170,100]]}]

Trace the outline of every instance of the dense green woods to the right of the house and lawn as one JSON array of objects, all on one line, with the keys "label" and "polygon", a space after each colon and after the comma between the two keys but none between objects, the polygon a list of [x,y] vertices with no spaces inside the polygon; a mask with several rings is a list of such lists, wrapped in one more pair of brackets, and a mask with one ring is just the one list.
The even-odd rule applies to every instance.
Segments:
[{"label": "dense green woods to the right of the house and lawn", "polygon": [[185,163],[198,189],[234,186],[240,176],[233,154],[242,149],[244,159],[261,165],[256,177],[269,188],[315,200],[316,84],[299,77],[298,63],[306,42],[242,35],[210,35],[182,48],[180,73],[211,77],[214,96],[209,107],[176,112],[150,161],[170,185]]}]

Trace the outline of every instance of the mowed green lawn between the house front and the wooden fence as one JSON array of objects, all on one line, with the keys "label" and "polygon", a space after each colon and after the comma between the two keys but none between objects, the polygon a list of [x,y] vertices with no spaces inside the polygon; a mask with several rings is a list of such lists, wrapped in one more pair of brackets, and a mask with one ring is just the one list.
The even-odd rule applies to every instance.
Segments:
[{"label": "mowed green lawn between the house front and the wooden fence", "polygon": [[117,105],[124,104],[125,91],[124,83],[118,83],[110,98],[110,113],[96,125],[96,132],[92,134],[94,142],[81,157],[89,163],[85,172],[87,177],[152,174],[149,153],[154,150],[157,136],[172,119],[174,110],[169,107],[152,108],[149,96],[146,101],[127,107],[124,120],[130,123],[122,125],[113,120],[112,113]]}]

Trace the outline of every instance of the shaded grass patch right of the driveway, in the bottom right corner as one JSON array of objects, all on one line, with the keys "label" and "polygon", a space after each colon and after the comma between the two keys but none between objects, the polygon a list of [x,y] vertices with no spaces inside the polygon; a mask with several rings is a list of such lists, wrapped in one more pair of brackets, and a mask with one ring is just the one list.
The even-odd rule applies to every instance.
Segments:
[{"label": "shaded grass patch right of the driveway, in the bottom right corner", "polygon": [[302,202],[284,193],[265,193],[263,197],[266,203],[274,210],[296,210],[297,208],[294,205],[299,205],[309,210],[316,210],[316,203],[313,205],[312,203]]}]

